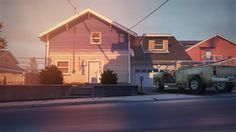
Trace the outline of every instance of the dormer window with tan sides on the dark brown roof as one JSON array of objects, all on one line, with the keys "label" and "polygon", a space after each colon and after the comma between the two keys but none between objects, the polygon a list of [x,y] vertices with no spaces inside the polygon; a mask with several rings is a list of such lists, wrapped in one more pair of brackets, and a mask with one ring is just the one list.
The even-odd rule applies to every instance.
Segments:
[{"label": "dormer window with tan sides on the dark brown roof", "polygon": [[168,52],[168,40],[163,39],[150,39],[148,40],[148,51],[151,52]]}]

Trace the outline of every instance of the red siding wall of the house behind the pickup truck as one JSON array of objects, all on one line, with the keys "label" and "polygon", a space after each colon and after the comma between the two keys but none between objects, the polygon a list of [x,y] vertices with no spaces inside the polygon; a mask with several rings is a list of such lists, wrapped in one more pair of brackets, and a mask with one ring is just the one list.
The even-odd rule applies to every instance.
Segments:
[{"label": "red siding wall of the house behind the pickup truck", "polygon": [[229,58],[236,57],[236,45],[219,36],[186,51],[193,61],[202,61],[202,56],[205,54],[204,50],[207,50],[203,47],[211,46],[214,48],[209,48],[208,50],[212,51],[212,55],[223,55]]}]

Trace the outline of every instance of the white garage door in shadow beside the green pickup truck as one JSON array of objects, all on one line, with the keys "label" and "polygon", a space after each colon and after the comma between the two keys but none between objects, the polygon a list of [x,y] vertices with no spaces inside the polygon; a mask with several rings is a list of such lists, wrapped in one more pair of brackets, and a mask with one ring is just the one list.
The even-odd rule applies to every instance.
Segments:
[{"label": "white garage door in shadow beside the green pickup truck", "polygon": [[153,87],[153,75],[158,69],[135,69],[135,84],[141,86],[140,77],[143,77],[143,87]]}]

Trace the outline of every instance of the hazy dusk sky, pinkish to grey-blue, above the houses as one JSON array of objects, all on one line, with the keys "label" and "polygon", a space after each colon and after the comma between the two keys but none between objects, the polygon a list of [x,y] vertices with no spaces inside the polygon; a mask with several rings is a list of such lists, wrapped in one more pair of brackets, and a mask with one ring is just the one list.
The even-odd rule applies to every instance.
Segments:
[{"label": "hazy dusk sky, pinkish to grey-blue, above the houses", "polygon": [[[86,8],[130,28],[165,0],[71,0],[77,12]],[[16,57],[44,57],[38,35],[73,16],[67,0],[0,0],[2,36]],[[169,0],[132,29],[168,33],[177,40],[203,40],[216,33],[236,42],[236,0]]]}]

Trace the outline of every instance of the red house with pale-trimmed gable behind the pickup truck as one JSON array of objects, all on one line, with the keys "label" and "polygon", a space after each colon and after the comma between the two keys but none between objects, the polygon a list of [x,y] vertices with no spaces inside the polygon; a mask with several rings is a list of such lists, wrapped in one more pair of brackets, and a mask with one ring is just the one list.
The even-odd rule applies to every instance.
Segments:
[{"label": "red house with pale-trimmed gable behind the pickup truck", "polygon": [[236,43],[215,34],[186,49],[186,52],[193,61],[219,62],[236,57]]}]

